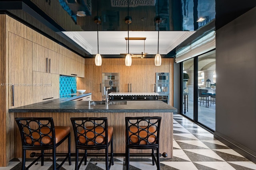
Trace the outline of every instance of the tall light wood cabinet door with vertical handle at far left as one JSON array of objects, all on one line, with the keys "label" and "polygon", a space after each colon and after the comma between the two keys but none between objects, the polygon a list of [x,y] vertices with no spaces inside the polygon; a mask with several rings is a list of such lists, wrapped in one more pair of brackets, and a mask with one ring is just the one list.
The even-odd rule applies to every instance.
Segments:
[{"label": "tall light wood cabinet door with vertical handle at far left", "polygon": [[32,42],[8,33],[9,108],[32,104]]}]

